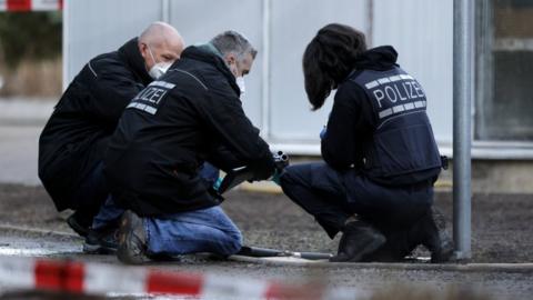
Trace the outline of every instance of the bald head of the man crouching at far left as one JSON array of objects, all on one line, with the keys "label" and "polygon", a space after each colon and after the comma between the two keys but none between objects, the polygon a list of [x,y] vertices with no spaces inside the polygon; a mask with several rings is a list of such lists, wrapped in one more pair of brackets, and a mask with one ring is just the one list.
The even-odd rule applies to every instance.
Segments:
[{"label": "bald head of the man crouching at far left", "polygon": [[184,46],[180,32],[165,22],[151,23],[139,37],[139,51],[147,70],[159,62],[174,62],[180,58]]}]

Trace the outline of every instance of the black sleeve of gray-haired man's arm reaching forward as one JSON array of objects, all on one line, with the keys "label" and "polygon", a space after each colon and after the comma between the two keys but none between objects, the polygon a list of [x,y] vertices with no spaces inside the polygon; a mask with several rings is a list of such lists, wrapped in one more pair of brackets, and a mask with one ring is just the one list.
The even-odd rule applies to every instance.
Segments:
[{"label": "black sleeve of gray-haired man's arm reaching forward", "polygon": [[[244,114],[242,104],[232,91],[212,91],[202,106],[202,114],[221,143],[254,171],[255,180],[266,179],[275,169],[269,144],[259,136],[259,129]],[[225,166],[227,167],[227,166]]]}]

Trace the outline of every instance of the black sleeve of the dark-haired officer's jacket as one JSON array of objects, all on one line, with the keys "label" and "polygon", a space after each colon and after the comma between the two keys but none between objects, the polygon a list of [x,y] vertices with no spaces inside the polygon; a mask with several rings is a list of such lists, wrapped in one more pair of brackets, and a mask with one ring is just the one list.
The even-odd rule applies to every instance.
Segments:
[{"label": "black sleeve of the dark-haired officer's jacket", "polygon": [[373,122],[372,107],[364,91],[355,83],[342,84],[321,142],[324,161],[336,170],[361,167],[362,144],[373,131]]}]

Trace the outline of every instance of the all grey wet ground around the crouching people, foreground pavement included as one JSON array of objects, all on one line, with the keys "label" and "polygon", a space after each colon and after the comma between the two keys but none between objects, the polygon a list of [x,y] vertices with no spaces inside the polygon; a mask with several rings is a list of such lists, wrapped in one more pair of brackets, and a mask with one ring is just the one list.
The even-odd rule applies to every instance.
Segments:
[{"label": "all grey wet ground around the crouching people, foreground pavement included", "polygon": [[[490,263],[487,266],[501,266],[496,263],[504,262],[526,266],[520,263],[533,261],[531,259],[533,233],[527,227],[533,213],[531,198],[520,194],[473,197],[471,262]],[[223,208],[242,230],[247,244],[299,251],[336,250],[338,239],[330,240],[310,216],[283,194],[232,191],[227,199]],[[435,203],[446,216],[451,216],[449,192],[436,193]],[[54,210],[42,187],[0,184],[0,254],[119,263],[113,256],[82,253],[83,240],[76,237],[64,223],[67,214]],[[418,249],[416,254],[428,256],[428,252]],[[481,297],[470,299],[531,299],[533,294],[531,264],[527,264],[527,268],[484,269],[450,266],[462,264],[414,262],[302,266],[227,261],[190,256],[179,262],[159,262],[150,267],[214,273],[235,280],[255,278],[285,283],[325,282],[333,287],[355,287],[369,292],[392,289],[401,292],[429,291],[442,297],[443,292],[465,291]],[[416,299],[414,296],[410,298]]]}]

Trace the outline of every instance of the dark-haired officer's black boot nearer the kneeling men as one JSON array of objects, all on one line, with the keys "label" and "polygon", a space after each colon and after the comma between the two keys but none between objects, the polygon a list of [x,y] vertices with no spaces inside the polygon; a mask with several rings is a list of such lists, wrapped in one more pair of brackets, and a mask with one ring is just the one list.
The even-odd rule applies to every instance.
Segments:
[{"label": "dark-haired officer's black boot nearer the kneeling men", "polygon": [[339,243],[339,252],[330,259],[331,262],[362,261],[382,247],[386,239],[378,229],[363,221],[353,221],[344,226]]}]

